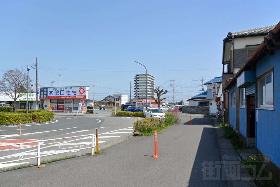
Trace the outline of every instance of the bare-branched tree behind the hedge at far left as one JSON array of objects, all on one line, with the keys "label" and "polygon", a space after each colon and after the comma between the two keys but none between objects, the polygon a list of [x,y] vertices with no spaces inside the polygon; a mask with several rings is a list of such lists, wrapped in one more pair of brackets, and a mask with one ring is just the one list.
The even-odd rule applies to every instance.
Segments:
[{"label": "bare-branched tree behind the hedge at far left", "polygon": [[[31,83],[32,81],[29,76],[28,82]],[[27,92],[27,74],[18,69],[8,70],[0,80],[0,87],[2,95],[9,96],[14,100],[13,111],[15,112],[17,98]],[[28,90],[31,90],[31,84],[28,84]]]}]

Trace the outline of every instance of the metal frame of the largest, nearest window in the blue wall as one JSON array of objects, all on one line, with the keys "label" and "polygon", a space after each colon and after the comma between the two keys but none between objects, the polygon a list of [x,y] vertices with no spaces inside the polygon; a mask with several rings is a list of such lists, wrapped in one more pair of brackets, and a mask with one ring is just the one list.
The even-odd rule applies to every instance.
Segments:
[{"label": "metal frame of the largest, nearest window in the blue wall", "polygon": [[[267,93],[266,93],[266,91],[267,91],[267,83],[266,83],[266,77],[268,76],[268,75],[270,75],[270,74],[272,74],[271,75],[271,77],[272,77],[272,100],[273,100],[273,104],[272,105],[267,105],[266,104],[266,102],[267,102]],[[261,100],[261,95],[263,95],[263,93],[262,94],[260,94],[260,92],[262,92],[263,90],[262,90],[262,86],[260,85],[261,84],[261,79],[263,79],[264,78],[264,83],[265,83],[265,105],[261,105],[260,104],[260,100]],[[271,109],[271,110],[274,110],[274,71],[273,71],[273,68],[271,69],[271,70],[268,70],[267,72],[265,72],[265,73],[263,73],[262,75],[260,75],[259,77],[257,77],[257,108],[258,109]]]}]

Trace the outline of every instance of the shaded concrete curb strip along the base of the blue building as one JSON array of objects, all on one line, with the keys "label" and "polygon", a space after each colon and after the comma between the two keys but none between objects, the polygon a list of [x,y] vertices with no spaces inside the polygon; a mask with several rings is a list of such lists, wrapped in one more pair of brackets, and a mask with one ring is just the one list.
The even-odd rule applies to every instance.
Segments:
[{"label": "shaded concrete curb strip along the base of the blue building", "polygon": [[[217,122],[217,119],[214,119],[214,126],[216,129],[217,134],[217,140],[220,147],[220,152],[222,156],[222,162],[223,164],[226,164],[226,161],[240,161],[240,177],[248,177],[250,178],[250,175],[248,174],[247,170],[245,169],[243,163],[241,162],[239,155],[235,148],[233,147],[232,143],[229,139],[223,138],[224,131],[220,128],[220,124]],[[229,176],[227,168],[225,167],[225,174],[226,177],[230,178],[230,180],[227,180],[227,186],[229,187],[239,187],[239,186],[251,186],[251,187],[257,187],[254,181],[249,180],[236,180],[231,179],[232,177]]]}]

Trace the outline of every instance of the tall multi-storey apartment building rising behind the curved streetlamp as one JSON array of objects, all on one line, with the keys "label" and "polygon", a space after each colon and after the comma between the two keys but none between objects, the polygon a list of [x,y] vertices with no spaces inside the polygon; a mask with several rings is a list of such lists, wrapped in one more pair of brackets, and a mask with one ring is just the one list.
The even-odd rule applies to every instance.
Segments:
[{"label": "tall multi-storey apartment building rising behind the curved streetlamp", "polygon": [[[147,99],[154,95],[155,77],[147,74]],[[146,73],[136,74],[134,77],[134,97],[146,99]]]}]

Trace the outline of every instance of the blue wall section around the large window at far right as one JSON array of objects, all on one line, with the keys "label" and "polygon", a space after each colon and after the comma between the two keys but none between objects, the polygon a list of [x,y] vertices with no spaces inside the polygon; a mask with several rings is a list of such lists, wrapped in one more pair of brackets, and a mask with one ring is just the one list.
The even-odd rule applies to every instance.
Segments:
[{"label": "blue wall section around the large window at far right", "polygon": [[280,50],[274,51],[274,55],[266,55],[256,64],[256,77],[271,68],[274,68],[274,110],[256,109],[256,148],[263,154],[272,155],[272,162],[280,167]]}]

